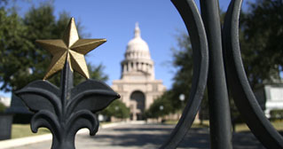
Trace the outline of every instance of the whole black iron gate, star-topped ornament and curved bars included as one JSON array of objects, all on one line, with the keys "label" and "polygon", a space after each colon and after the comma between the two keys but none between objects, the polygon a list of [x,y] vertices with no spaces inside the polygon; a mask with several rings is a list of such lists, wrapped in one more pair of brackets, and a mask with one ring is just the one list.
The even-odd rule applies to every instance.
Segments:
[{"label": "whole black iron gate, star-topped ornament and curved bars included", "polygon": [[[176,148],[185,137],[200,108],[208,84],[211,148],[232,148],[227,90],[229,88],[241,116],[255,137],[267,148],[282,149],[283,137],[272,127],[256,102],[241,61],[239,17],[242,0],[231,1],[223,27],[220,23],[217,0],[200,0],[201,16],[193,0],[172,0],[172,2],[185,21],[191,37],[193,84],[185,110],[176,128],[161,148]],[[88,128],[90,135],[95,135],[98,121],[90,111],[98,112],[115,98],[119,98],[119,95],[103,82],[87,80],[73,87],[73,69],[85,77],[87,75],[80,67],[83,62],[75,63],[75,55],[72,55],[72,52],[86,48],[86,51],[80,53],[84,55],[90,51],[90,48],[94,49],[105,42],[102,39],[87,41],[72,36],[75,29],[73,21],[70,21],[63,40],[39,41],[45,49],[51,51],[54,58],[58,58],[56,54],[60,53],[54,49],[64,51],[60,53],[62,55],[66,54],[63,61],[57,59],[64,65],[54,69],[56,71],[62,69],[60,89],[50,82],[36,81],[17,92],[29,109],[35,112],[31,122],[32,130],[36,132],[39,127],[51,129],[52,148],[56,149],[75,148],[75,133],[78,129]],[[56,61],[52,63],[57,64]]]}]

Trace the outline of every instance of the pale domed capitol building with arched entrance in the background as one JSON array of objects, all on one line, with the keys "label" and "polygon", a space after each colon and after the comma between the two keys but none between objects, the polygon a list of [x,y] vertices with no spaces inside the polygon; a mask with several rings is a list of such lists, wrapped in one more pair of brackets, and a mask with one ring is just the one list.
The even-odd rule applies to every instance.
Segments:
[{"label": "pale domed capitol building with arched entrance in the background", "polygon": [[138,23],[134,37],[127,45],[121,62],[122,75],[114,80],[112,89],[121,95],[120,100],[130,107],[130,120],[143,120],[145,109],[166,90],[161,80],[155,80],[154,62],[147,43],[141,38]]}]

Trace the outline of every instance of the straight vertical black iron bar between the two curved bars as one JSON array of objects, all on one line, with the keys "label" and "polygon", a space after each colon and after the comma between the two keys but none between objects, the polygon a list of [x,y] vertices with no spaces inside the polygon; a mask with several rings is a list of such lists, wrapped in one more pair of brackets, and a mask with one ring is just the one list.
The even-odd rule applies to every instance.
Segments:
[{"label": "straight vertical black iron bar between the two curved bars", "polygon": [[212,149],[232,149],[231,115],[228,100],[222,35],[217,0],[200,0],[201,17],[208,36],[208,104]]}]

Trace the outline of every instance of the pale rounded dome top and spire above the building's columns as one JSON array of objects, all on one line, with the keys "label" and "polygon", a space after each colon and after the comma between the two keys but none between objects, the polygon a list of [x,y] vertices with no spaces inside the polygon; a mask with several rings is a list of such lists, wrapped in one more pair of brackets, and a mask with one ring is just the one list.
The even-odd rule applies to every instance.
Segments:
[{"label": "pale rounded dome top and spire above the building's columns", "polygon": [[126,59],[151,59],[147,43],[141,38],[138,23],[135,27],[135,36],[127,45]]}]

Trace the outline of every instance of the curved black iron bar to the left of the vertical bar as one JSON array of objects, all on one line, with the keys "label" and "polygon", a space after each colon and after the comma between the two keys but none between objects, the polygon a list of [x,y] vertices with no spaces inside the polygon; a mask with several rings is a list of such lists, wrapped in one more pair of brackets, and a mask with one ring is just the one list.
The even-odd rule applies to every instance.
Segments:
[{"label": "curved black iron bar to the left of the vertical bar", "polygon": [[172,0],[185,21],[185,26],[191,36],[193,47],[193,83],[192,90],[184,112],[171,132],[171,135],[161,148],[176,148],[187,131],[200,108],[208,79],[208,42],[205,29],[193,0]]}]

